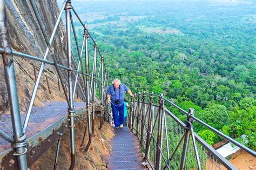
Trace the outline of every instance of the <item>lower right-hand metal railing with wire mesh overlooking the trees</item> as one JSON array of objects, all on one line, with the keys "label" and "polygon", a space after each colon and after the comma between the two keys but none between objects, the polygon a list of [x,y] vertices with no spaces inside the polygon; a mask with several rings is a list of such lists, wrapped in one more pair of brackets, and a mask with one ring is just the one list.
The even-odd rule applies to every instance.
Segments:
[{"label": "lower right-hand metal railing with wire mesh overlooking the trees", "polygon": [[[144,161],[153,169],[237,169],[193,131],[193,122],[219,134],[255,157],[252,149],[207,125],[194,116],[194,109],[183,110],[163,94],[143,92],[131,98],[128,127],[137,135],[144,151]],[[153,104],[158,98],[158,105]],[[146,103],[145,101],[149,101]],[[187,115],[186,124],[165,103]],[[139,128],[140,127],[140,128]]]}]

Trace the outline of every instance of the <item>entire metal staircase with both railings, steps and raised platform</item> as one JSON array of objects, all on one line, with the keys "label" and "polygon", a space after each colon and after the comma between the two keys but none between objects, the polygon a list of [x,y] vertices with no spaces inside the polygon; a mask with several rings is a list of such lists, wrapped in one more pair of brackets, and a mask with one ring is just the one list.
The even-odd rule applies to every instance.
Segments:
[{"label": "entire metal staircase with both railings, steps and raised platform", "polygon": [[[12,51],[6,26],[6,17],[8,16],[6,16],[4,9],[5,1],[0,0],[0,53],[4,61],[5,80],[11,111],[9,115],[1,115],[1,168],[28,169],[28,167],[35,163],[57,141],[58,147],[56,153],[58,155],[60,146],[59,138],[67,130],[70,130],[70,169],[73,169],[76,164],[75,142],[77,142],[75,141],[75,124],[80,120],[87,120],[85,130],[89,134],[89,141],[84,149],[87,152],[93,137],[92,134],[103,127],[104,120],[109,120],[110,106],[106,101],[109,73],[107,72],[104,57],[101,55],[96,41],[90,35],[90,32],[77,15],[75,9],[73,9],[71,0],[64,1],[50,37],[45,30],[47,23],[42,22],[34,0],[30,0],[30,4],[43,33],[45,44],[47,45],[43,58]],[[66,63],[68,63],[68,66],[60,65],[57,62],[57,56],[55,56],[52,47],[52,40],[55,37],[64,10],[66,13],[66,43],[68,46]],[[71,13],[78,18],[84,29],[82,44],[78,44]],[[71,28],[75,37],[75,45],[79,57],[78,64],[73,62],[75,59],[71,50]],[[94,49],[91,67],[88,55],[88,46],[90,45],[88,39],[92,40]],[[42,63],[26,114],[21,114],[19,111],[14,56]],[[48,56],[52,57],[53,62],[47,58]],[[56,69],[56,77],[60,80],[59,86],[62,87],[66,102],[59,103],[53,101],[51,103],[45,103],[45,107],[35,107],[33,104],[46,64],[52,65]],[[68,79],[64,79],[61,71],[68,71]],[[78,81],[81,81],[79,83],[82,85],[81,89],[83,89],[85,100],[75,103],[74,98]],[[68,84],[68,90],[66,90],[65,82]],[[98,94],[98,97],[96,94]],[[172,101],[166,99],[164,94],[137,93],[134,98],[131,98],[130,103],[131,110],[128,115],[128,126],[114,128],[113,131],[116,136],[111,140],[111,155],[105,155],[104,157],[107,162],[107,168],[109,169],[236,169],[230,162],[221,157],[215,149],[194,133],[194,121],[197,121],[224,139],[231,141],[234,145],[239,146],[254,157],[256,155],[250,148],[241,145],[239,142],[195,117],[193,108],[185,111],[172,103]],[[166,105],[172,106],[181,113],[186,114],[185,124],[172,111],[167,110]],[[100,114],[99,127],[95,126],[95,115],[97,113]],[[56,156],[54,162],[55,168],[57,162],[58,157]],[[146,166],[143,166],[142,162]]]}]

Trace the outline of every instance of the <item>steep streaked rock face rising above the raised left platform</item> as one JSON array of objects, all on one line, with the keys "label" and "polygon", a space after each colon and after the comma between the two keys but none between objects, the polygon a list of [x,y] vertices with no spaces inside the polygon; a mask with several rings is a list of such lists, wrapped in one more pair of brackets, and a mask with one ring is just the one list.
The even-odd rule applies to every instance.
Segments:
[{"label": "steep streaked rock face rising above the raised left platform", "polygon": [[[36,1],[36,5],[50,38],[59,14],[57,2],[55,0],[38,0]],[[23,0],[7,0],[5,1],[5,7],[12,49],[14,51],[43,58],[47,46],[30,2]],[[59,23],[52,46],[58,63],[66,66],[66,32],[62,21]],[[41,63],[21,57],[14,57],[14,60],[20,110],[21,113],[25,113],[35,85],[35,74],[33,68],[35,67],[36,74],[38,74]],[[50,54],[48,55],[48,60],[53,61]],[[73,65],[73,67],[75,68],[76,66]],[[60,70],[63,78],[65,79],[66,88],[68,88],[68,73],[66,70]],[[46,83],[46,76],[48,77],[51,94]],[[0,59],[0,77],[0,113],[9,113],[9,98],[4,80],[2,57]],[[66,100],[61,85],[60,90],[58,89],[58,76],[54,66],[45,65],[40,82],[35,105],[43,105],[43,101]],[[82,87],[80,82],[82,82],[81,78],[79,78],[79,85],[77,86],[78,95],[80,99],[84,99],[82,90],[80,89],[80,87]]]}]

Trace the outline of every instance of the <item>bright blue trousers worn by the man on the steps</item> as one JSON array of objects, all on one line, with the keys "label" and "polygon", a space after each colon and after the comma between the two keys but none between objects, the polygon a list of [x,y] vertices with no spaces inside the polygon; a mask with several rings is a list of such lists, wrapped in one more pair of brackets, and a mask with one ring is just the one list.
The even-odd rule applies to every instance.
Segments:
[{"label": "bright blue trousers worn by the man on the steps", "polygon": [[111,104],[111,107],[113,112],[114,126],[119,127],[120,125],[124,124],[124,104],[122,106],[115,106]]}]

